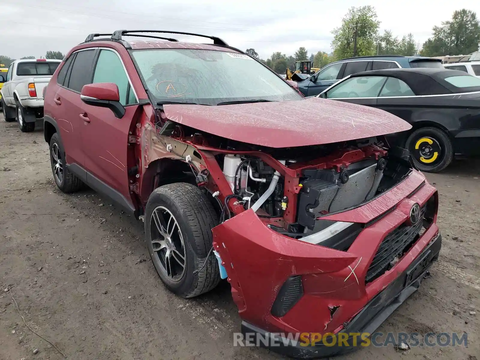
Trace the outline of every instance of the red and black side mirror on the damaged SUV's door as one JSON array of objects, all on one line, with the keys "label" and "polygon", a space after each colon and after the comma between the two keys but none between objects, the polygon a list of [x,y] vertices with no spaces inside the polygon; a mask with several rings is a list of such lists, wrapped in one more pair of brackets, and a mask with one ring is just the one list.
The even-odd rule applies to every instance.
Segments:
[{"label": "red and black side mirror on the damaged SUV's door", "polygon": [[113,83],[87,84],[82,88],[80,98],[85,104],[109,108],[115,117],[121,119],[125,108],[120,104],[119,87]]}]

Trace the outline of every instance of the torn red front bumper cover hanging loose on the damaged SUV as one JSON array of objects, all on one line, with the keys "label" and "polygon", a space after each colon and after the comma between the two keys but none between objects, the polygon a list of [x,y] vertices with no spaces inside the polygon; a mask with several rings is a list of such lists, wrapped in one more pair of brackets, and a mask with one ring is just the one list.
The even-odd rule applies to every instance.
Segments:
[{"label": "torn red front bumper cover hanging loose on the damaged SUV", "polygon": [[[214,248],[227,270],[232,297],[244,321],[242,327],[254,333],[337,334],[345,324],[353,324],[362,309],[384,289],[394,289],[391,301],[405,297],[401,294],[410,290],[402,288],[411,287],[404,284],[403,274],[429,244],[441,244],[435,221],[393,268],[368,283],[365,276],[385,236],[407,221],[413,204],[423,206],[435,193],[422,174],[412,172],[370,203],[328,216],[336,221],[368,223],[346,252],[283,236],[267,228],[252,210],[214,228]],[[301,276],[301,297],[288,312],[274,315],[272,307],[280,289],[292,276]],[[410,280],[415,283],[418,279]],[[401,287],[397,281],[402,282]],[[360,330],[366,326],[358,324],[357,320],[355,327]]]}]

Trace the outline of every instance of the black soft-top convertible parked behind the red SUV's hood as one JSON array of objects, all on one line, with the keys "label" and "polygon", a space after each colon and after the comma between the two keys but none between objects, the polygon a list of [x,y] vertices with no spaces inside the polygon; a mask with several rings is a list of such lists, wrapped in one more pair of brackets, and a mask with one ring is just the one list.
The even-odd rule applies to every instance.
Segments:
[{"label": "black soft-top convertible parked behind the red SUV's hood", "polygon": [[454,155],[480,155],[480,78],[444,69],[385,69],[348,76],[319,95],[388,111],[412,125],[388,136],[416,167],[437,172]]}]

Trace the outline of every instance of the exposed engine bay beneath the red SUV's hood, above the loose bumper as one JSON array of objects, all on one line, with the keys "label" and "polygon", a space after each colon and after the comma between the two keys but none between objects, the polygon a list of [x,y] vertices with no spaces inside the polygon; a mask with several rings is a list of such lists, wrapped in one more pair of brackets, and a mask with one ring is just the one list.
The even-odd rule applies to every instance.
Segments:
[{"label": "exposed engine bay beneath the red SUV's hood, above the loose bumper", "polygon": [[159,142],[177,156],[181,155],[161,136],[195,146],[197,150],[185,159],[193,181],[216,198],[220,223],[252,209],[278,233],[338,250],[348,249],[360,224],[322,217],[366,204],[411,172],[408,150],[388,149],[384,136],[273,148],[198,132],[169,120],[156,130]]}]

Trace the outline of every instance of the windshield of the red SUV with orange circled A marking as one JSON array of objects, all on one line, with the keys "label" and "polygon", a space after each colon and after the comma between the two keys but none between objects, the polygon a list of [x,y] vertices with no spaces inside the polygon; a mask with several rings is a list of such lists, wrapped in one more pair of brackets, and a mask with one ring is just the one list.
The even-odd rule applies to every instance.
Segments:
[{"label": "windshield of the red SUV with orange circled A marking", "polygon": [[288,83],[248,55],[194,49],[134,50],[133,59],[156,102],[217,105],[300,100]]}]

